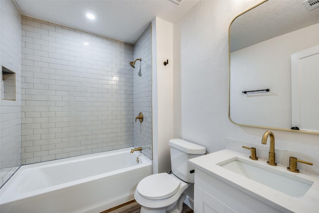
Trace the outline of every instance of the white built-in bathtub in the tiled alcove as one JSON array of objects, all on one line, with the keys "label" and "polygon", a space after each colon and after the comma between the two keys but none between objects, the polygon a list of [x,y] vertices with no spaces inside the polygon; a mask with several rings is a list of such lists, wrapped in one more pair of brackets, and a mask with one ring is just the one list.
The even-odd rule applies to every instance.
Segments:
[{"label": "white built-in bathtub in the tiled alcove", "polygon": [[99,213],[131,201],[138,183],[152,174],[152,161],[130,151],[21,166],[0,189],[0,212]]}]

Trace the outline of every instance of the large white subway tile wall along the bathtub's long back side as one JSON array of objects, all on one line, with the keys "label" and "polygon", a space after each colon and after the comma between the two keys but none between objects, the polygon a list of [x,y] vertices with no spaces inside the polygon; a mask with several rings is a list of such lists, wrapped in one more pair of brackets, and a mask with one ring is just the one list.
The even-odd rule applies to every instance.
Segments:
[{"label": "large white subway tile wall along the bathtub's long back side", "polygon": [[22,16],[21,163],[133,146],[132,60],[133,44]]}]

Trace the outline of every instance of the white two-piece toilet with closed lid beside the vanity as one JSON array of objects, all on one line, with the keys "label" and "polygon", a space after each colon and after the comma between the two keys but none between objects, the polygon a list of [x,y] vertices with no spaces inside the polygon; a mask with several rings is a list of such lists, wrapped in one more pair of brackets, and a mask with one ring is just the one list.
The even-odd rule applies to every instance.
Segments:
[{"label": "white two-piece toilet with closed lid beside the vanity", "polygon": [[181,139],[171,139],[168,145],[171,174],[150,175],[135,190],[141,213],[181,213],[186,189],[194,184],[194,168],[187,161],[206,152],[205,147]]}]

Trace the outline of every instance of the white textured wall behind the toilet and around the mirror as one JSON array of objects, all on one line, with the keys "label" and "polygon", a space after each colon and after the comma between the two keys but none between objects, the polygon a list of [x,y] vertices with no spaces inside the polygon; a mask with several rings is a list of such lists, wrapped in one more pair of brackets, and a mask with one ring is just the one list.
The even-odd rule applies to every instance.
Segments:
[{"label": "white textured wall behind the toilet and around the mirror", "polygon": [[[228,27],[258,0],[199,1],[173,23],[174,137],[205,146],[208,153],[243,140],[260,144],[267,129],[228,119]],[[319,135],[273,130],[276,147],[319,155]],[[269,145],[265,145],[269,146]]]}]

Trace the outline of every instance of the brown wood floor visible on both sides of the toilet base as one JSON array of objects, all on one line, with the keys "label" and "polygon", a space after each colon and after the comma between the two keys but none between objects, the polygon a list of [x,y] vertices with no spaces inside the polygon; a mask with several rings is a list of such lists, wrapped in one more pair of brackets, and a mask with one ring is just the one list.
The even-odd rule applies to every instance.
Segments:
[{"label": "brown wood floor visible on both sides of the toilet base", "polygon": [[[101,213],[140,213],[140,210],[141,206],[133,200]],[[194,213],[194,211],[184,204],[182,213]]]}]

